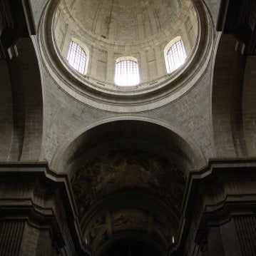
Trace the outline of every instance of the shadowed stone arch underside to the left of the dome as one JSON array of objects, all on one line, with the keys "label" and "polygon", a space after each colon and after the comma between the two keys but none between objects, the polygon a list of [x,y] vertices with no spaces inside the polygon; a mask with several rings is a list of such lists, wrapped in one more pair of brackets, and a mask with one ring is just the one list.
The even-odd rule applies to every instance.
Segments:
[{"label": "shadowed stone arch underside to the left of the dome", "polygon": [[[15,43],[16,51],[8,66],[0,66],[4,78],[1,94],[0,121],[4,144],[2,161],[40,160],[43,136],[43,91],[39,61],[32,39],[23,38]],[[28,68],[29,67],[29,68]],[[9,73],[9,74],[8,74]],[[29,78],[33,76],[33,79]],[[4,123],[4,122],[3,122]]]}]

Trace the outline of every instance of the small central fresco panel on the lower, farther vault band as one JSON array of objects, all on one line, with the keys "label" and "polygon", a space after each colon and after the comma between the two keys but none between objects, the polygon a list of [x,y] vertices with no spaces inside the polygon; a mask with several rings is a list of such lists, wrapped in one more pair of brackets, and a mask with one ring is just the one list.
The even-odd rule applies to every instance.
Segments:
[{"label": "small central fresco panel on the lower, farther vault band", "polygon": [[148,213],[137,209],[123,209],[111,213],[113,232],[119,230],[147,230]]}]

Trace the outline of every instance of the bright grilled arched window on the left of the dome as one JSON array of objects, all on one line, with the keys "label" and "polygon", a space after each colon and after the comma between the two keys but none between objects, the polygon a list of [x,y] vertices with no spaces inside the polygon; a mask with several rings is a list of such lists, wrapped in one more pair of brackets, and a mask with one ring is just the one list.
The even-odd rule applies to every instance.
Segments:
[{"label": "bright grilled arched window on the left of the dome", "polygon": [[86,52],[73,41],[70,43],[67,59],[68,63],[78,72],[86,73]]}]

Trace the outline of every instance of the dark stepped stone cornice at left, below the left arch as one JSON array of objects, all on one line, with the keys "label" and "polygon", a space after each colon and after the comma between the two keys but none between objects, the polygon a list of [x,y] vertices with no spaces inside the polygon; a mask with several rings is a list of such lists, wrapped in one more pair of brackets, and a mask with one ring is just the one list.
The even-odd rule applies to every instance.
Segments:
[{"label": "dark stepped stone cornice at left, below the left arch", "polygon": [[46,162],[0,163],[0,177],[6,191],[0,198],[1,221],[26,220],[39,230],[49,229],[59,249],[73,244],[86,255],[67,174],[57,174]]}]

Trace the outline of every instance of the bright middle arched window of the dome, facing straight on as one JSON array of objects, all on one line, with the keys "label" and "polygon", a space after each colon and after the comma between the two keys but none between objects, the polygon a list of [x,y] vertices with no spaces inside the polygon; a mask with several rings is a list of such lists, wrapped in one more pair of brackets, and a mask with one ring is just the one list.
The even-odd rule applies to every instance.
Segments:
[{"label": "bright middle arched window of the dome, facing straight on", "polygon": [[121,57],[116,60],[115,83],[118,86],[136,86],[140,83],[136,58]]}]

